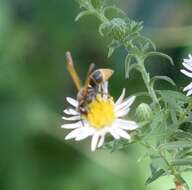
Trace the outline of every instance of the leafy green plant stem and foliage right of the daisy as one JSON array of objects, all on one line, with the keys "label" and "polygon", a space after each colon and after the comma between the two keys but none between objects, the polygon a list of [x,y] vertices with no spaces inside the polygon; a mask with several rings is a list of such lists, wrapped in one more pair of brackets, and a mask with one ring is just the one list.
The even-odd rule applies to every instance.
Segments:
[{"label": "leafy green plant stem and foliage right of the daisy", "polygon": [[[142,22],[127,18],[116,6],[108,4],[105,0],[77,1],[84,8],[77,16],[77,20],[90,14],[100,20],[98,27],[100,35],[110,39],[108,57],[112,56],[116,49],[124,47],[127,51],[125,77],[129,78],[132,70],[140,72],[151,98],[149,105],[144,104],[144,108],[141,106],[142,108],[138,108],[139,111],[137,109],[136,115],[142,114],[142,119],[139,120],[142,123],[138,123],[140,128],[132,135],[132,143],[144,146],[147,150],[146,155],[151,160],[151,176],[147,179],[146,185],[163,175],[172,175],[174,180],[188,189],[182,172],[192,167],[191,99],[176,91],[155,91],[154,84],[157,80],[164,80],[173,86],[176,84],[167,76],[151,78],[145,67],[145,62],[150,56],[165,58],[171,66],[174,66],[172,58],[157,52],[155,44],[141,35]],[[118,14],[109,18],[107,11],[111,8],[117,10]],[[146,113],[148,114],[145,115]],[[127,141],[114,140],[106,143],[105,148],[115,151],[126,149],[128,145]]]}]

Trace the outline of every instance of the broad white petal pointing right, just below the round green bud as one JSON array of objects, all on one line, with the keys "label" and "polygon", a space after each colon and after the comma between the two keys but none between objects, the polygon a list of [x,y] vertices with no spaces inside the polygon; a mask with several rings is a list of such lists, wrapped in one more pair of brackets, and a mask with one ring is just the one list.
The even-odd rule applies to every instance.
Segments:
[{"label": "broad white petal pointing right, just below the round green bud", "polygon": [[116,119],[114,124],[115,127],[119,127],[121,129],[126,130],[134,130],[138,128],[138,125],[134,121],[124,120],[124,119]]}]

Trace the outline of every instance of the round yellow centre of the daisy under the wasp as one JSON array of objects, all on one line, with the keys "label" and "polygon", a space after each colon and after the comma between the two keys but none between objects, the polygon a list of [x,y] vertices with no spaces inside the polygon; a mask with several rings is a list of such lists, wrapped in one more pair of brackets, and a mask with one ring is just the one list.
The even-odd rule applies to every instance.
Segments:
[{"label": "round yellow centre of the daisy under the wasp", "polygon": [[104,99],[97,95],[96,99],[88,104],[88,111],[83,117],[92,127],[101,129],[110,125],[115,119],[114,102],[112,98]]}]

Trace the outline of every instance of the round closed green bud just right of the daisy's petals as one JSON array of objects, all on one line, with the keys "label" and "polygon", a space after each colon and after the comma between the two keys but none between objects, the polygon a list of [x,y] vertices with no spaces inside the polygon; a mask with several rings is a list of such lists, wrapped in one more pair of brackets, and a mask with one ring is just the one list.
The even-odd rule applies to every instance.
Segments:
[{"label": "round closed green bud just right of the daisy's petals", "polygon": [[136,109],[135,116],[138,121],[149,121],[153,116],[153,112],[148,104],[141,103]]}]

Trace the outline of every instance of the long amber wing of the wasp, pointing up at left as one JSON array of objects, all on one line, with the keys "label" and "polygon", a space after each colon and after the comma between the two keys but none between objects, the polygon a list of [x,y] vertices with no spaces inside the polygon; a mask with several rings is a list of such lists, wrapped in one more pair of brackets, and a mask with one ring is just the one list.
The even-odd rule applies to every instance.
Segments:
[{"label": "long amber wing of the wasp, pointing up at left", "polygon": [[68,70],[77,90],[79,91],[81,88],[81,84],[80,84],[79,76],[78,76],[78,74],[75,70],[74,64],[73,64],[73,59],[72,59],[71,53],[69,51],[67,51],[65,54],[65,57],[66,57],[67,70]]}]

